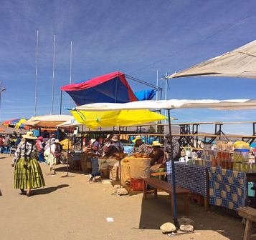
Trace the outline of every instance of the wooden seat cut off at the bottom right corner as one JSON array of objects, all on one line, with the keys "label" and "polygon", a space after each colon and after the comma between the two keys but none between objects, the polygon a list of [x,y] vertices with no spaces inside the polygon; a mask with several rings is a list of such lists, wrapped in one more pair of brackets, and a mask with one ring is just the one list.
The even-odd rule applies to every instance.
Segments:
[{"label": "wooden seat cut off at the bottom right corner", "polygon": [[255,236],[255,234],[251,235],[251,230],[252,222],[256,222],[256,209],[250,206],[240,206],[238,214],[246,219],[244,240],[249,240],[251,236]]}]

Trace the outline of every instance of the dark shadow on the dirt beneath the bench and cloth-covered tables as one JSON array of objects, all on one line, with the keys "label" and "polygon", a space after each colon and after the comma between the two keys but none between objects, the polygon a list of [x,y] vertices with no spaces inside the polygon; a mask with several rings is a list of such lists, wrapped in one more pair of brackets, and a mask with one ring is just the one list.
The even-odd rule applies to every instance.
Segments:
[{"label": "dark shadow on the dirt beneath the bench and cloth-covered tables", "polygon": [[[182,206],[183,201],[177,199],[178,205]],[[212,211],[205,211],[203,206],[194,202],[189,204],[189,214],[186,216],[182,209],[178,208],[178,219],[188,217],[194,220],[194,229],[197,234],[199,231],[214,231],[227,239],[240,240],[244,234],[245,226],[241,223],[242,219],[237,214],[230,214],[227,209],[215,208]],[[147,199],[141,202],[140,229],[159,229],[166,222],[174,222],[171,201],[168,195],[158,194],[155,199],[153,194],[148,195]],[[230,231],[230,226],[234,231]]]}]

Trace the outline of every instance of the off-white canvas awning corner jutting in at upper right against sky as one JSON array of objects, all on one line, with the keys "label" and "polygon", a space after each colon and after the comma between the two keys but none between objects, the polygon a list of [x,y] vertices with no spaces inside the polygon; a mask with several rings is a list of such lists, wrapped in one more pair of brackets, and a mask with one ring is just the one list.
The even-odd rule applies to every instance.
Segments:
[{"label": "off-white canvas awning corner jutting in at upper right against sky", "polygon": [[167,76],[230,76],[256,79],[256,40],[189,69]]}]

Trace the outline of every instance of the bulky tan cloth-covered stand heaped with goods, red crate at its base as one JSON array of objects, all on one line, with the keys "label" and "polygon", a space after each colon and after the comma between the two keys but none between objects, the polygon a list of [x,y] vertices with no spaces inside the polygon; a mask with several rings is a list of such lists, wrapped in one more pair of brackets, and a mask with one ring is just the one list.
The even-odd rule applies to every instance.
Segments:
[{"label": "bulky tan cloth-covered stand heaped with goods, red crate at its base", "polygon": [[120,183],[134,191],[143,191],[143,179],[150,177],[151,159],[146,155],[133,154],[120,162]]}]

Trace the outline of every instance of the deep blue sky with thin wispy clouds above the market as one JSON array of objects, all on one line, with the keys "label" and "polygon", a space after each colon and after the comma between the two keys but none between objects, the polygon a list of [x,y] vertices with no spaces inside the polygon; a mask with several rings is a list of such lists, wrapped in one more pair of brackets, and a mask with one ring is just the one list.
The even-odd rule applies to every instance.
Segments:
[{"label": "deep blue sky with thin wispy clouds above the market", "polygon": [[[0,80],[6,87],[1,94],[3,121],[34,116],[37,30],[37,115],[52,111],[54,34],[54,114],[59,114],[60,86],[70,81],[70,41],[73,82],[122,71],[156,84],[156,69],[159,76],[172,74],[255,40],[256,1],[2,0],[0,21]],[[143,89],[130,84],[134,91]],[[255,89],[255,79],[182,78],[169,80],[167,98],[256,99]],[[62,106],[70,106],[65,93]],[[185,109],[172,115],[178,122],[255,121],[256,112]],[[248,124],[226,129],[252,133]]]}]

